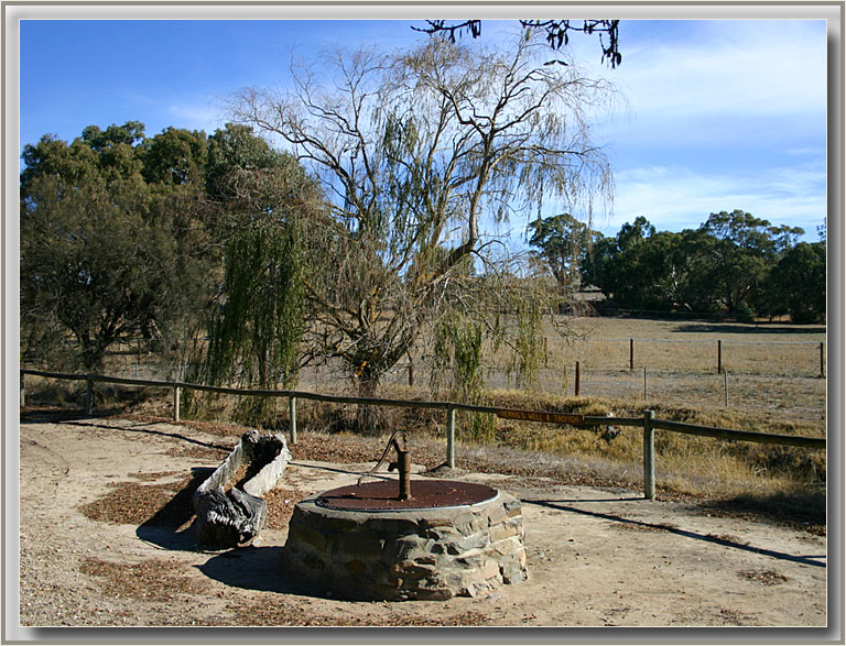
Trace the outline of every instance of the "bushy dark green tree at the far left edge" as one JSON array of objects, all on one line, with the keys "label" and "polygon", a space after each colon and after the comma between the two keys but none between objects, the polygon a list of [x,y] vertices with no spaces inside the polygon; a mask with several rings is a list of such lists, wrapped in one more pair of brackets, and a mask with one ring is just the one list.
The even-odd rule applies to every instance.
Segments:
[{"label": "bushy dark green tree at the far left edge", "polygon": [[110,346],[167,318],[175,248],[150,218],[141,128],[89,127],[70,144],[24,146],[21,322],[36,354],[70,333],[82,364],[99,370]]}]

